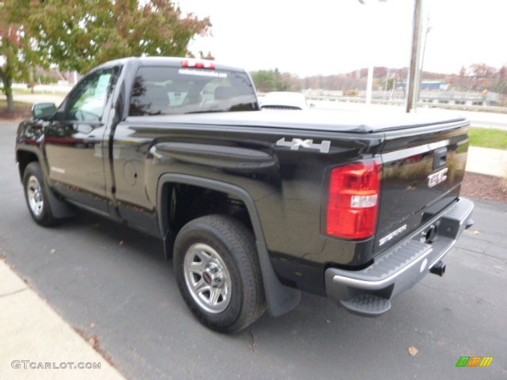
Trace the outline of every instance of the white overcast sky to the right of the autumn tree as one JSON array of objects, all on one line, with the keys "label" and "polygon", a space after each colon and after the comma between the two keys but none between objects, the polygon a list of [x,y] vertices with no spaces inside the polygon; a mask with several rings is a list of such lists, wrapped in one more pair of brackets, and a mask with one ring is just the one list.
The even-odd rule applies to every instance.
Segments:
[{"label": "white overcast sky to the right of the autumn tree", "polygon": [[[423,0],[429,13],[424,70],[507,64],[507,1]],[[177,1],[176,1],[177,3]],[[413,0],[180,0],[184,12],[209,16],[212,36],[191,46],[247,70],[333,74],[410,61]],[[426,18],[426,17],[425,17]]]}]

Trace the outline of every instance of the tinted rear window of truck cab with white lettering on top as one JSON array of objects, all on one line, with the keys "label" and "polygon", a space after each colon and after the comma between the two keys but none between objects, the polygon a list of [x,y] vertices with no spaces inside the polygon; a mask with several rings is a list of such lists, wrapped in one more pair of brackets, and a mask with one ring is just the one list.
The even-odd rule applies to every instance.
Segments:
[{"label": "tinted rear window of truck cab with white lettering on top", "polygon": [[130,99],[130,116],[259,109],[246,73],[218,69],[140,67]]}]

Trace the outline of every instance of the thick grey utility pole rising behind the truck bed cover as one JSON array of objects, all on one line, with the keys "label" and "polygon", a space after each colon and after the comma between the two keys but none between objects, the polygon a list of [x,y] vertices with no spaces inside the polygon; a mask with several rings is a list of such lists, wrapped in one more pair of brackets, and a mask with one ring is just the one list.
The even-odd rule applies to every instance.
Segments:
[{"label": "thick grey utility pole rising behind the truck bed cover", "polygon": [[412,54],[407,80],[407,112],[415,112],[419,89],[419,55],[421,52],[421,7],[422,0],[414,0],[412,29]]}]

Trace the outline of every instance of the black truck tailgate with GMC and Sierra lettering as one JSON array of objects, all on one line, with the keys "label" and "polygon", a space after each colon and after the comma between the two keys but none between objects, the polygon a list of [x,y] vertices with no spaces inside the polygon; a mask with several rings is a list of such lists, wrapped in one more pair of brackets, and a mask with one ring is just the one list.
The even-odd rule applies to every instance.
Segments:
[{"label": "black truck tailgate with GMC and Sierra lettering", "polygon": [[[410,235],[459,196],[468,150],[466,120],[386,130],[374,254]],[[437,226],[438,227],[438,226]],[[421,241],[431,239],[424,231]]]}]

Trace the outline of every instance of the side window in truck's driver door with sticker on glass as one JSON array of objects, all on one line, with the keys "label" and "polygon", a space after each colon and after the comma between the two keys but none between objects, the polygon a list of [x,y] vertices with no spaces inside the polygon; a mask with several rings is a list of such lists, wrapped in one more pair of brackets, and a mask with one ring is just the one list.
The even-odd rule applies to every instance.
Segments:
[{"label": "side window in truck's driver door with sticker on glass", "polygon": [[95,71],[85,78],[70,95],[65,119],[100,122],[119,73],[120,67],[111,67]]}]

